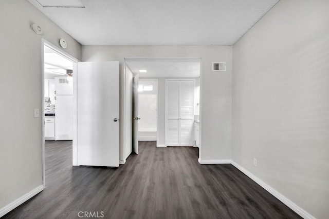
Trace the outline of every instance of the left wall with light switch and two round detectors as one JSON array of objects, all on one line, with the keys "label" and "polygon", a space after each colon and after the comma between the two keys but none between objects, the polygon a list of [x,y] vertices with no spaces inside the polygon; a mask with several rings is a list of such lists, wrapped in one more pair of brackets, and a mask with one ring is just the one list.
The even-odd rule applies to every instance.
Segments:
[{"label": "left wall with light switch and two round detectors", "polygon": [[[41,38],[80,59],[81,45],[25,0],[0,1],[0,210],[42,185]],[[43,28],[35,34],[31,22]]]}]

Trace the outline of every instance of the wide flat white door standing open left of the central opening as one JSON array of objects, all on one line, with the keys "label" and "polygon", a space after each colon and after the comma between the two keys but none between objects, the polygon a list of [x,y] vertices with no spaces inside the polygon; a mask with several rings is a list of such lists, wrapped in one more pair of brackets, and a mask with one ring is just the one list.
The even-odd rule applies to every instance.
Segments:
[{"label": "wide flat white door standing open left of the central opening", "polygon": [[78,165],[119,166],[119,62],[78,63]]}]

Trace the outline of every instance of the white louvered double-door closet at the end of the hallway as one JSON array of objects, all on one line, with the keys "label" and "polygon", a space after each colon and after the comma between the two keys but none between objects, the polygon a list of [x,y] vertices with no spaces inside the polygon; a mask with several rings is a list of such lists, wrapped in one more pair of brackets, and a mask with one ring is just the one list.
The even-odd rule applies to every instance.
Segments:
[{"label": "white louvered double-door closet at the end of the hallway", "polygon": [[193,79],[166,81],[166,145],[193,146]]}]

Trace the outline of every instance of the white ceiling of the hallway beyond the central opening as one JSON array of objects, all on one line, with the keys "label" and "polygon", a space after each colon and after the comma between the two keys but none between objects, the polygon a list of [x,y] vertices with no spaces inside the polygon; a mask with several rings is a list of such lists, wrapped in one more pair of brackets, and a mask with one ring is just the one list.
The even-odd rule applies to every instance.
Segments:
[{"label": "white ceiling of the hallway beyond the central opening", "polygon": [[[179,59],[125,59],[126,65],[140,78],[194,78],[200,76],[200,60],[192,58]],[[139,70],[147,70],[140,73]]]}]

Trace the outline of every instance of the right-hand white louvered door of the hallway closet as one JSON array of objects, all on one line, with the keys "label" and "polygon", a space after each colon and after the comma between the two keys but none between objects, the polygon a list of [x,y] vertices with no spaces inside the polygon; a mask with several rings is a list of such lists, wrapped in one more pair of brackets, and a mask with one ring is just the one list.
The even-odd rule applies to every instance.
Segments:
[{"label": "right-hand white louvered door of the hallway closet", "polygon": [[193,146],[193,81],[179,84],[180,146]]}]

